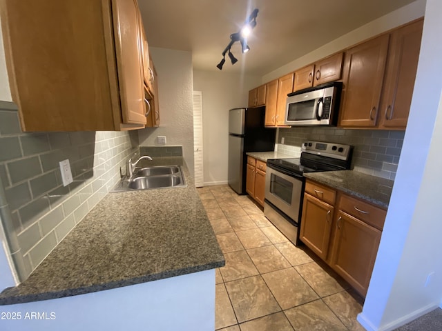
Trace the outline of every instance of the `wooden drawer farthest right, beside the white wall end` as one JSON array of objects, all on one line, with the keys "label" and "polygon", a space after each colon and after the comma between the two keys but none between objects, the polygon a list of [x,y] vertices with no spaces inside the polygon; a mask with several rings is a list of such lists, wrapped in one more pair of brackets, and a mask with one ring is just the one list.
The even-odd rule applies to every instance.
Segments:
[{"label": "wooden drawer farthest right, beside the white wall end", "polygon": [[339,200],[339,209],[379,230],[383,229],[387,211],[381,208],[343,194]]}]

